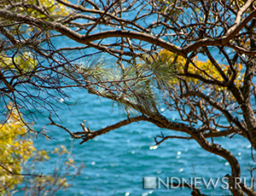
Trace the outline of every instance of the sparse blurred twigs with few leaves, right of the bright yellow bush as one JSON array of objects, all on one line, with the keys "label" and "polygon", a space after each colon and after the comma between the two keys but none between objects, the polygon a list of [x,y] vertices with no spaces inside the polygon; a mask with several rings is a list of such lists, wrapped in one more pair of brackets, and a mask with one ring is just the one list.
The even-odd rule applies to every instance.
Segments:
[{"label": "sparse blurred twigs with few leaves, right of the bright yellow bush", "polygon": [[[70,187],[70,181],[76,176],[80,175],[84,165],[77,166],[74,159],[71,157],[71,153],[67,150],[67,147],[61,145],[61,147],[55,147],[55,150],[50,152],[51,156],[58,156],[55,164],[55,169],[52,174],[37,176],[35,178],[24,179],[24,187],[21,188],[24,195],[55,195],[55,192],[65,190]],[[49,153],[47,153],[47,156]],[[40,157],[40,156],[39,156]],[[45,160],[44,160],[45,161]],[[40,162],[44,163],[40,160]],[[26,170],[35,170],[34,168],[38,164],[38,158],[32,160],[32,166]]]}]

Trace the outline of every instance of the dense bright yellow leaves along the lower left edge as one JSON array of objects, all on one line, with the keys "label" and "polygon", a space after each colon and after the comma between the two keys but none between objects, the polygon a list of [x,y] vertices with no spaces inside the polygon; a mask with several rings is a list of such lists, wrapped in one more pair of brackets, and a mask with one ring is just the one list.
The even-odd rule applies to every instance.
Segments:
[{"label": "dense bright yellow leaves along the lower left edge", "polygon": [[[0,164],[13,174],[20,174],[22,165],[36,152],[32,140],[26,135],[25,124],[19,119],[19,115],[12,111],[7,122],[1,124],[0,128]],[[7,170],[0,168],[1,189],[22,182],[23,176],[11,175]]]}]

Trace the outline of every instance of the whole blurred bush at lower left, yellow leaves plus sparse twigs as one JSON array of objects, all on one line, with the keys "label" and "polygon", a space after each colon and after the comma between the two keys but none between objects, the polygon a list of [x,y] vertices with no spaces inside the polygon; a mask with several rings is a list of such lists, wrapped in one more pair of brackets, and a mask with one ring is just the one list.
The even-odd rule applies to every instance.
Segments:
[{"label": "whole blurred bush at lower left, yellow leaves plus sparse twigs", "polygon": [[[1,195],[12,195],[17,191],[22,191],[25,195],[53,195],[52,193],[69,187],[70,179],[67,176],[79,175],[83,164],[77,167],[71,153],[64,146],[56,147],[50,153],[38,150],[34,146],[32,135],[29,135],[22,123],[20,114],[15,110],[10,111],[9,118],[0,128]],[[36,166],[49,160],[50,154],[59,156],[59,162],[62,162],[56,164],[53,174],[41,175],[42,172]],[[70,173],[70,170],[75,172]]]}]

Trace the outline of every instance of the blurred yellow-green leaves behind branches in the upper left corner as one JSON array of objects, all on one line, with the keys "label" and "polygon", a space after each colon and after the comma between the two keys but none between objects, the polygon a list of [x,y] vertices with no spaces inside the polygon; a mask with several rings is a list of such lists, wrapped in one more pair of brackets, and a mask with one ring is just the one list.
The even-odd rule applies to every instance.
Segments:
[{"label": "blurred yellow-green leaves behind branches in the upper left corner", "polygon": [[[3,1],[0,9],[9,9],[14,13],[29,15],[33,18],[48,21],[61,20],[70,14],[70,9],[67,9],[67,7],[60,3],[56,3],[54,0],[17,0],[13,3],[11,1]],[[1,25],[3,26],[1,27],[3,28],[1,32],[5,37],[12,40],[12,44],[15,45],[16,49],[12,55],[6,52],[1,53],[0,69],[15,70],[19,73],[34,71],[38,59],[31,52],[32,49],[30,47],[39,47],[38,39],[42,36],[42,32],[45,35],[49,32],[47,26],[20,26],[19,23],[9,26],[9,20],[3,20]],[[7,25],[7,27],[4,27],[4,25]],[[5,41],[3,41],[4,44],[6,44]]]}]

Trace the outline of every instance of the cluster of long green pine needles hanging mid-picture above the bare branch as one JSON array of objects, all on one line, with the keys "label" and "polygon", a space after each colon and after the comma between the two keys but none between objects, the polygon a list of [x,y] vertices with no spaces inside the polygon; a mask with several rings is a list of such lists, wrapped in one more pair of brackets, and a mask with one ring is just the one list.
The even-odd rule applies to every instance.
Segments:
[{"label": "cluster of long green pine needles hanging mid-picture above the bare branch", "polygon": [[115,62],[103,58],[97,60],[76,67],[88,81],[90,93],[116,100],[126,111],[135,112],[140,107],[148,112],[156,111],[157,85],[166,83],[166,75],[172,72],[169,67],[160,61],[152,65],[138,61],[116,66]]}]

